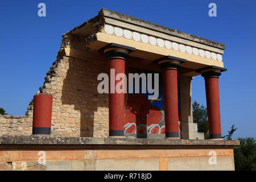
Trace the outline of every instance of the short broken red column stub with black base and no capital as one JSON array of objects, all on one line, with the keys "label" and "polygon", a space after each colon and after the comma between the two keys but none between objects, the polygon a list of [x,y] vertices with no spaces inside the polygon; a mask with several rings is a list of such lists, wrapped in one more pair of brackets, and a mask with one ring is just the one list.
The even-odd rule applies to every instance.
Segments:
[{"label": "short broken red column stub with black base and no capital", "polygon": [[32,134],[51,134],[52,96],[39,94],[34,96]]}]

